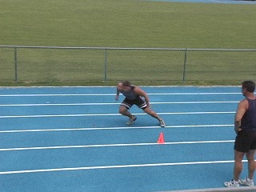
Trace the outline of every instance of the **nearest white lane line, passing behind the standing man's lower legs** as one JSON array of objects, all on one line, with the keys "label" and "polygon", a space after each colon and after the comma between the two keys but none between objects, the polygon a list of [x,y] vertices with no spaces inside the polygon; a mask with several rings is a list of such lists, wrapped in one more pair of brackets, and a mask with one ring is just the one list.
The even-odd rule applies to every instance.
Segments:
[{"label": "nearest white lane line, passing behind the standing man's lower legs", "polygon": [[[247,162],[247,161],[242,160],[242,162]],[[234,160],[211,161],[211,162],[163,162],[163,163],[119,165],[119,166],[83,166],[83,167],[66,167],[66,168],[45,169],[45,170],[10,170],[10,171],[2,171],[0,172],[0,174],[28,174],[28,173],[70,171],[70,170],[103,170],[103,169],[135,168],[135,167],[146,167],[146,166],[186,166],[186,165],[220,164],[220,163],[234,163]]]}]

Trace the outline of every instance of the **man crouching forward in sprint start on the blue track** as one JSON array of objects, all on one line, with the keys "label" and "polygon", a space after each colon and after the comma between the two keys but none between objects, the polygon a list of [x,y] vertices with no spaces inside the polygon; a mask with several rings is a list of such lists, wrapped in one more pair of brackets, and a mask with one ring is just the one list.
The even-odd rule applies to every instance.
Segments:
[{"label": "man crouching forward in sprint start on the blue track", "polygon": [[158,114],[154,112],[154,110],[150,109],[150,98],[144,90],[138,86],[130,85],[130,82],[128,81],[124,81],[118,83],[117,94],[115,96],[116,100],[119,98],[119,93],[122,93],[126,97],[119,107],[119,113],[129,118],[129,121],[126,122],[127,126],[132,125],[133,122],[137,119],[133,114],[130,114],[129,112],[130,107],[134,104],[138,106],[138,108],[144,110],[146,114],[150,114],[153,118],[157,118],[160,126],[166,126],[166,123],[163,121],[163,119],[160,118]]}]

